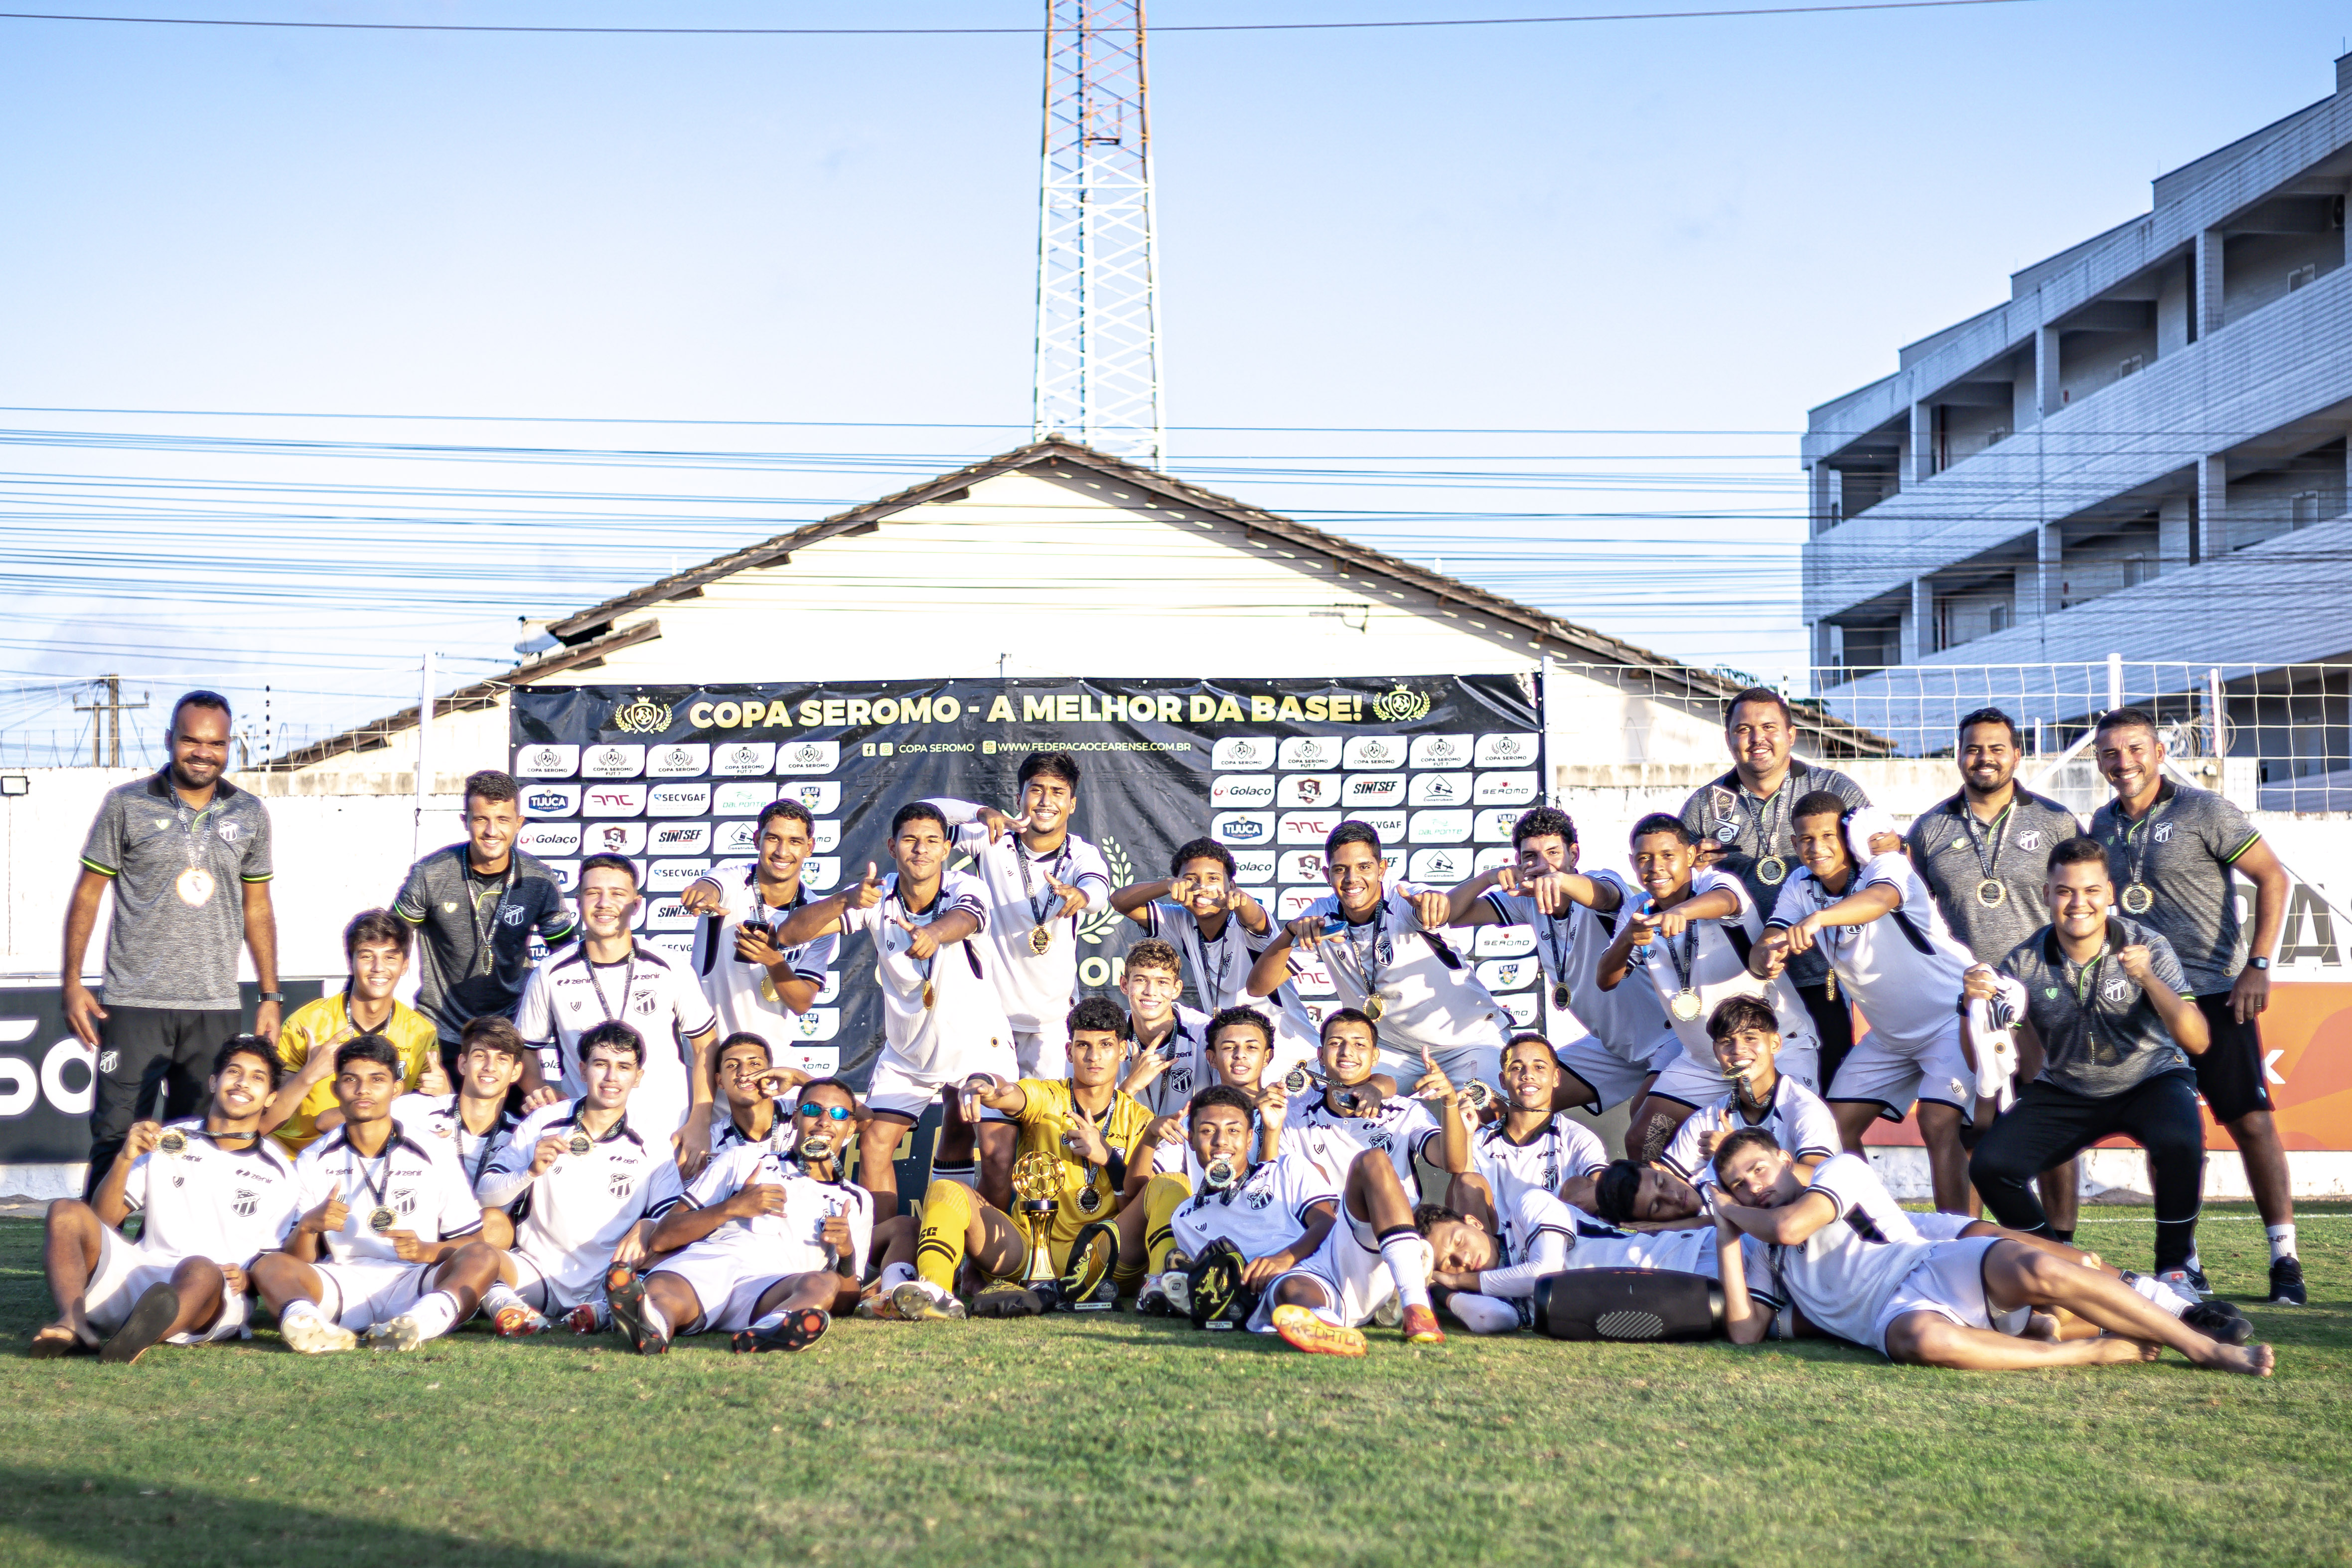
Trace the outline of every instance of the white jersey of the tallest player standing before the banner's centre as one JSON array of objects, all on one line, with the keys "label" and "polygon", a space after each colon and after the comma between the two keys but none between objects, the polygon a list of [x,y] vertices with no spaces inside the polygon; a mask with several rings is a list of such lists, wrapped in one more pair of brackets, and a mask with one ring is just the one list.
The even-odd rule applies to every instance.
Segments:
[{"label": "white jersey of the tallest player standing before the banner's centre", "polygon": [[[1007,830],[995,844],[978,818],[981,809],[964,799],[934,799],[941,816],[955,825],[955,846],[971,856],[971,875],[988,889],[988,945],[995,950],[990,973],[1004,1016],[1023,1034],[1051,1034],[1061,1039],[1063,1018],[1077,997],[1077,922],[1051,919],[1061,907],[1061,893],[1047,886],[1047,877],[1063,886],[1075,886],[1087,896],[1089,910],[1110,905],[1110,867],[1103,851],[1075,832],[1063,832],[1061,849],[1035,856],[1021,844],[1021,835]],[[1037,931],[1047,933],[1047,950],[1037,952]]]}]

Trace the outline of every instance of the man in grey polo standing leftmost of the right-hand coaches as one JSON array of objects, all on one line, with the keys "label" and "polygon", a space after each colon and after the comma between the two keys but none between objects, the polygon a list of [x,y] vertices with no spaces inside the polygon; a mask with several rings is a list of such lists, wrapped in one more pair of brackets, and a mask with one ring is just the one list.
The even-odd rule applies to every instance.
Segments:
[{"label": "man in grey polo standing leftmost of the right-hand coaches", "polygon": [[[1715,865],[1748,884],[1748,896],[1766,914],[1780,898],[1780,884],[1797,865],[1797,825],[1790,809],[1799,795],[1830,790],[1849,806],[1867,806],[1863,785],[1837,769],[1795,762],[1797,722],[1771,686],[1748,686],[1724,710],[1724,745],[1731,748],[1731,771],[1691,790],[1682,802],[1682,825],[1712,846]],[[1853,1013],[1837,994],[1837,978],[1820,952],[1799,952],[1788,961],[1788,978],[1813,1016],[1820,1039],[1820,1081],[1837,1077],[1837,1065],[1853,1048]],[[1783,1027],[1788,1020],[1783,1020]]]}]

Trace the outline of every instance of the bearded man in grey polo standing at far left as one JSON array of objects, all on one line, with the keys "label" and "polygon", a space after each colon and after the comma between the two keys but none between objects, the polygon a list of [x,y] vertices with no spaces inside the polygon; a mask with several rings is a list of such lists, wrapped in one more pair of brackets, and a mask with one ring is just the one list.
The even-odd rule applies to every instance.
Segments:
[{"label": "bearded man in grey polo standing at far left", "polygon": [[[108,790],[82,844],[82,877],[66,905],[61,992],[66,1023],[99,1053],[87,1192],[106,1178],[134,1119],[169,1121],[205,1107],[214,1053],[245,1032],[240,945],[252,950],[261,983],[254,1034],[278,1034],[285,997],[270,912],[270,813],[252,790],[221,778],[228,724],[228,698],[216,691],[172,703],[172,762]],[[115,910],[99,1006],[82,985],[82,954],[108,886]]]}]

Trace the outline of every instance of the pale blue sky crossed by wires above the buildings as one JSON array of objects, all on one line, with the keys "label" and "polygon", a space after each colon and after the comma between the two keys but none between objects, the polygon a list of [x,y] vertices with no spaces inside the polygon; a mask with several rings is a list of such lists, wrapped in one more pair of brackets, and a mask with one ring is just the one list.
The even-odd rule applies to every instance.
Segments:
[{"label": "pale blue sky crossed by wires above the buildings", "polygon": [[[2157,172],[2324,96],[2347,26],[2027,0],[1164,31],[1545,9],[1152,5],[1174,465],[1766,677],[1804,658],[1804,409],[2145,212]],[[412,701],[426,646],[452,682],[492,672],[517,616],[1025,440],[1037,101],[1035,35],[0,21],[0,762],[71,738],[45,684],[101,670],[247,705],[270,682],[282,738],[365,719]]]}]

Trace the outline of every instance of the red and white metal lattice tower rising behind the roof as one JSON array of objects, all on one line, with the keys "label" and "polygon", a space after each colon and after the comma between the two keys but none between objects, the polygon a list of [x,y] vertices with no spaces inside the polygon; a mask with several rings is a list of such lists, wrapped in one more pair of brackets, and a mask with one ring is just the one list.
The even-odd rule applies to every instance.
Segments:
[{"label": "red and white metal lattice tower rising behind the roof", "polygon": [[1035,435],[1160,468],[1143,0],[1047,0]]}]

